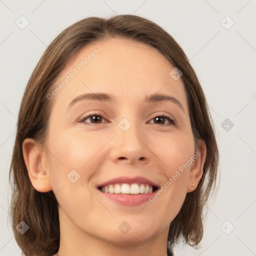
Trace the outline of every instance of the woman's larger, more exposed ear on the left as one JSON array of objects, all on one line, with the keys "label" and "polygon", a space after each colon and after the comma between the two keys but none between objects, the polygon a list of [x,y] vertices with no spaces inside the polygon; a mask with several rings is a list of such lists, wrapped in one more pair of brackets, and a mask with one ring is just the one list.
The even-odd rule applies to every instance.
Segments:
[{"label": "woman's larger, more exposed ear on the left", "polygon": [[49,182],[49,170],[45,167],[45,157],[39,142],[32,138],[24,139],[22,151],[28,176],[34,189],[39,192],[52,190]]}]

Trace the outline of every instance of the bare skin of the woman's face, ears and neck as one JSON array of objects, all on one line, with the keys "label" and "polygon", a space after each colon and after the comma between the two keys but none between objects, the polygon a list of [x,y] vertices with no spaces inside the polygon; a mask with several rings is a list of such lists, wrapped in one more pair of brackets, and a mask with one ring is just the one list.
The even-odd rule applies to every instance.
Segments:
[{"label": "bare skin of the woman's face, ears and neck", "polygon": [[[166,255],[169,224],[201,178],[205,144],[199,140],[195,148],[183,82],[169,75],[174,66],[141,42],[109,38],[85,46],[52,88],[94,48],[95,57],[51,99],[44,147],[31,138],[23,141],[33,187],[52,190],[59,203],[55,255]],[[85,99],[68,107],[76,96],[91,92],[112,94],[114,100]],[[144,97],[153,93],[175,97],[183,110],[171,101],[146,103]],[[98,122],[78,122],[95,112],[102,117]],[[161,114],[175,124],[167,118],[157,122],[154,117]],[[118,126],[123,118],[131,124],[125,132]],[[201,155],[154,202],[120,205],[96,189],[117,176],[141,175],[163,185],[197,150]],[[80,175],[74,183],[66,176],[72,169]],[[118,228],[123,221],[131,226],[125,234]]]}]

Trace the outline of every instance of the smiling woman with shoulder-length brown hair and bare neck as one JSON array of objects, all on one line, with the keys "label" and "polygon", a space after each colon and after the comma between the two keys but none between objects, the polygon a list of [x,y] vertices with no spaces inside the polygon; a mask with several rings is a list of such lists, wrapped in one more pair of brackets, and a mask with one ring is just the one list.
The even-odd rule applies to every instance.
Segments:
[{"label": "smiling woman with shoulder-length brown hair and bare neck", "polygon": [[25,255],[173,255],[202,239],[218,149],[181,47],[136,16],[88,17],[47,47],[10,166]]}]

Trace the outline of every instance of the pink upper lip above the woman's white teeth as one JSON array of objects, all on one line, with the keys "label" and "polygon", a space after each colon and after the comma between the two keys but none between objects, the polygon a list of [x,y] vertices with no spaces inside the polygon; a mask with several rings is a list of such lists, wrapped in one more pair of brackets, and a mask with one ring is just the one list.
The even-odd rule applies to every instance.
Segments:
[{"label": "pink upper lip above the woman's white teeth", "polygon": [[133,177],[120,176],[120,177],[109,179],[101,184],[98,184],[97,187],[106,186],[106,185],[114,184],[114,183],[127,183],[127,184],[146,183],[146,184],[149,184],[150,186],[156,186],[157,188],[160,187],[157,183],[151,181],[150,179],[148,179],[146,177],[142,177],[142,176],[133,176]]}]

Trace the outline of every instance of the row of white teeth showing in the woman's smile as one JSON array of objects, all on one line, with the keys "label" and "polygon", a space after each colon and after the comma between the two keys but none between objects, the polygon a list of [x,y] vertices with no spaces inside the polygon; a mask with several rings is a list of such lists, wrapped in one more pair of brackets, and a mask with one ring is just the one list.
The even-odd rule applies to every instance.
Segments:
[{"label": "row of white teeth showing in the woman's smile", "polygon": [[153,187],[150,186],[149,184],[109,184],[106,186],[101,187],[101,191],[105,193],[115,193],[115,194],[148,194],[152,193]]}]

